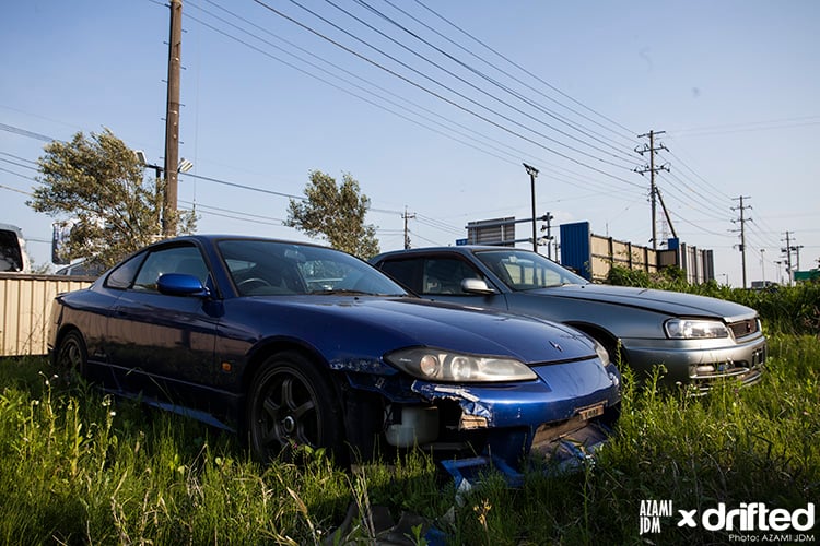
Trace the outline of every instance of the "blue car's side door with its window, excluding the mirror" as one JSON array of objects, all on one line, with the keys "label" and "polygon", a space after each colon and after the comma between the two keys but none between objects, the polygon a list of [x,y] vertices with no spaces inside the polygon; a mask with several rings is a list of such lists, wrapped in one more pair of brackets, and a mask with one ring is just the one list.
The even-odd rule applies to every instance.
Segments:
[{"label": "blue car's side door with its window, excluding the mirror", "polygon": [[198,384],[218,373],[221,306],[202,297],[161,294],[157,280],[165,273],[192,274],[203,284],[209,280],[206,260],[190,242],[150,251],[117,300],[108,328],[110,360],[126,390],[195,406],[202,395]]}]

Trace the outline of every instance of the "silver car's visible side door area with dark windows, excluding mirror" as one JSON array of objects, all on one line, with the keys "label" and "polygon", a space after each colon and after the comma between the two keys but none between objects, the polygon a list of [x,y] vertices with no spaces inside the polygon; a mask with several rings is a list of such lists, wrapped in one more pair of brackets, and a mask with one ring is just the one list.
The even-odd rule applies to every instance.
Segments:
[{"label": "silver car's visible side door area with dark windows, excluding mirror", "polygon": [[[385,260],[379,269],[426,299],[507,309],[504,294],[478,268],[458,254],[399,257]],[[484,281],[494,294],[466,292],[461,283],[467,278]]]}]

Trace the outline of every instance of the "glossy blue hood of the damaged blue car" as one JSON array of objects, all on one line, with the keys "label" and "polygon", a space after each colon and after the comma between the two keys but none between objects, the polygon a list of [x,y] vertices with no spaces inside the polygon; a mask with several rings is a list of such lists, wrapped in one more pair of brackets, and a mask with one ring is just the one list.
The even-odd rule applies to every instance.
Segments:
[{"label": "glossy blue hood of the damaged blue car", "polygon": [[[527,364],[596,355],[593,342],[569,327],[485,309],[418,298],[294,296],[245,298],[260,336],[307,339],[326,356],[344,351],[385,353],[430,346],[509,356]],[[266,317],[268,319],[266,319]],[[273,320],[273,318],[277,318]],[[350,355],[353,356],[353,355]]]}]

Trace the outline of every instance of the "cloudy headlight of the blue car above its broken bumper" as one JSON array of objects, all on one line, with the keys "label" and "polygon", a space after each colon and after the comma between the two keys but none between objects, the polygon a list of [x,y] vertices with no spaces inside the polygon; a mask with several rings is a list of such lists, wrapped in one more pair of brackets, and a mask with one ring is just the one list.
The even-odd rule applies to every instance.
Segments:
[{"label": "cloudy headlight of the blue car above its broken bumper", "polygon": [[419,379],[442,382],[527,381],[536,373],[513,358],[476,356],[415,347],[395,351],[385,360]]}]

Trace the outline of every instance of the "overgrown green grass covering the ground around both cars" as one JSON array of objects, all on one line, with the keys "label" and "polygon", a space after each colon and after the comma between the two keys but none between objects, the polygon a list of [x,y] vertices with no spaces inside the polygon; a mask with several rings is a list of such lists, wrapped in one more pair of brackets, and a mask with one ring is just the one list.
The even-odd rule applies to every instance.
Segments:
[{"label": "overgrown green grass covering the ground around both cars", "polygon": [[[820,498],[820,340],[774,335],[761,383],[704,397],[636,390],[595,464],[490,474],[456,498],[423,453],[336,468],[320,451],[261,467],[230,436],[65,387],[45,359],[0,361],[0,543],[318,544],[351,503],[434,521],[453,544],[703,544],[725,534],[664,522],[639,534],[641,500],[805,508]],[[676,512],[677,513],[677,512]],[[810,532],[816,537],[817,532]],[[356,518],[337,543],[373,542]],[[417,542],[422,542],[421,539]]]}]

